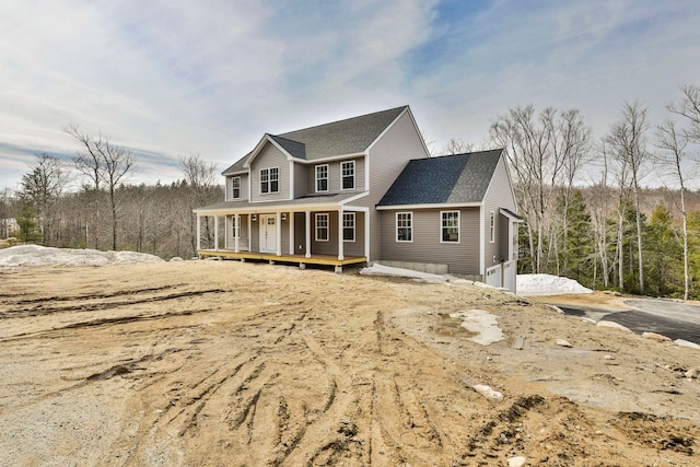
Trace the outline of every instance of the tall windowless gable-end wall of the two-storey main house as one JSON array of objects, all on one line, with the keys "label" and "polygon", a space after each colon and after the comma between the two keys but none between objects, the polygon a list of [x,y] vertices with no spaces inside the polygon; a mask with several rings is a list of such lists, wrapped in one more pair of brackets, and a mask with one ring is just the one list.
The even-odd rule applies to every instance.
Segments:
[{"label": "tall windowless gable-end wall of the two-storey main house", "polygon": [[[401,173],[411,159],[428,157],[422,139],[408,112],[404,113],[386,133],[374,144],[368,156],[366,170],[370,171],[370,194],[354,205],[370,208],[370,261],[388,259],[382,252],[382,218],[374,209],[386,190]],[[394,238],[393,229],[387,234]]]}]

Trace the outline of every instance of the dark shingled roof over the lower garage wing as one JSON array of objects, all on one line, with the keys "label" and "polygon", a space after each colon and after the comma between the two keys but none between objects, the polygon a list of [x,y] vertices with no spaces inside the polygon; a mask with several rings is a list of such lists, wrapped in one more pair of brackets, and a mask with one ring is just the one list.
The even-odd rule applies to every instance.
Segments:
[{"label": "dark shingled roof over the lower garage wing", "polygon": [[377,206],[481,202],[501,152],[411,160]]}]

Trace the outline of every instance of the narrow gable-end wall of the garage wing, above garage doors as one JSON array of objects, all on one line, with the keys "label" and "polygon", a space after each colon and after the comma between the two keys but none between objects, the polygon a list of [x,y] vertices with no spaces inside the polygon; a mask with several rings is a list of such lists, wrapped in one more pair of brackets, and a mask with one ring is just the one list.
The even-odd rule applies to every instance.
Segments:
[{"label": "narrow gable-end wall of the garage wing, above garage doors", "polygon": [[[493,172],[493,178],[489,185],[489,189],[486,192],[483,198],[483,232],[485,232],[485,242],[486,242],[486,255],[485,255],[485,267],[488,269],[491,266],[494,266],[500,262],[501,256],[505,260],[508,260],[508,245],[500,245],[500,240],[502,238],[503,229],[505,236],[508,237],[508,226],[503,227],[499,219],[501,214],[499,213],[500,208],[509,209],[515,212],[515,198],[513,197],[513,189],[511,187],[511,180],[508,176],[508,170],[505,167],[505,161],[503,156],[499,160],[499,163]],[[493,211],[495,213],[495,242],[489,242],[489,211]],[[502,252],[504,253],[502,254]],[[495,260],[494,260],[495,258]]]}]

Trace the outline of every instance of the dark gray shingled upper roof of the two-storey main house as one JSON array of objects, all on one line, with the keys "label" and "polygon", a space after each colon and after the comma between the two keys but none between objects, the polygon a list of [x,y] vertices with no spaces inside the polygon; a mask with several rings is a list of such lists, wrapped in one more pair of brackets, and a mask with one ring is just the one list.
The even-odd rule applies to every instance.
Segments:
[{"label": "dark gray shingled upper roof of the two-storey main house", "polygon": [[[357,154],[370,144],[406,109],[407,105],[359,117],[304,128],[281,135],[268,135],[287,152],[298,159],[313,161],[334,155]],[[222,172],[231,175],[246,172],[245,162],[252,153]]]}]

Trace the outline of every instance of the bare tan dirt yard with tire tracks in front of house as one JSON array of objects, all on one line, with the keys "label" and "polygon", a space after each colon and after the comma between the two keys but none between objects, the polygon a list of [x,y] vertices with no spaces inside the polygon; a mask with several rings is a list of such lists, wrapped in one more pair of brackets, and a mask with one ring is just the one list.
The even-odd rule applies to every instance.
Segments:
[{"label": "bare tan dirt yard with tire tracks in front of house", "polygon": [[700,351],[469,283],[4,268],[0,319],[2,466],[700,464]]}]

